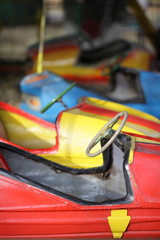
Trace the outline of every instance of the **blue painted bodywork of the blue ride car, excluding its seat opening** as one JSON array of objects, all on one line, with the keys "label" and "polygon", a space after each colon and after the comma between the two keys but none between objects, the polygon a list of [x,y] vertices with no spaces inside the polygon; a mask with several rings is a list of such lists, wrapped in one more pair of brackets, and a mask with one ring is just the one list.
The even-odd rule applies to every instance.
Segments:
[{"label": "blue painted bodywork of the blue ride car, excluding its seat opening", "polygon": [[[46,75],[47,77],[45,77],[43,80],[27,84],[28,80],[41,75]],[[160,74],[139,71],[139,84],[141,85],[145,102],[130,102],[124,103],[124,105],[147,112],[160,118]],[[39,98],[41,102],[41,109],[69,86],[69,82],[65,81],[62,77],[48,71],[44,71],[41,74],[28,75],[24,77],[20,83],[22,93],[37,96]],[[78,104],[79,98],[84,96],[107,100],[107,98],[101,96],[100,94],[96,94],[79,86],[75,86],[63,96],[63,101],[69,108],[71,108]],[[60,102],[55,103],[45,113],[40,113],[41,109],[39,109],[39,111],[31,109],[25,102],[22,102],[20,107],[24,111],[50,122],[55,122],[58,114],[62,110],[65,110],[65,107]]]}]

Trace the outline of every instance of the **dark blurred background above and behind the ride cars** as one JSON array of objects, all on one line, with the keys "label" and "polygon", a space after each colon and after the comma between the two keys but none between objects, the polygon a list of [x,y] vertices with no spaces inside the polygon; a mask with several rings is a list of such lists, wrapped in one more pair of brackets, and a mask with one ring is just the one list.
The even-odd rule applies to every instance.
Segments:
[{"label": "dark blurred background above and behind the ride cars", "polygon": [[[21,101],[19,81],[32,66],[30,49],[38,48],[43,3],[0,1],[1,101],[16,106]],[[46,0],[44,41],[72,34],[94,45],[126,39],[155,54],[159,71],[159,13],[159,0]]]}]

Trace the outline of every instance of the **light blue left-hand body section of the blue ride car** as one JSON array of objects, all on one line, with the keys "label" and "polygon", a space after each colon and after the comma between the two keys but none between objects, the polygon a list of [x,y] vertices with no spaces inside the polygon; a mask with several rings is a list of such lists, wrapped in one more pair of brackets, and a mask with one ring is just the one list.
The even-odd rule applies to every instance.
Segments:
[{"label": "light blue left-hand body section of the blue ride car", "polygon": [[[34,79],[36,76],[47,76],[43,80],[37,82],[31,82],[27,84],[27,81]],[[53,98],[56,98],[62,91],[70,86],[71,83],[65,81],[62,77],[57,76],[48,71],[44,71],[42,74],[31,74],[24,77],[20,82],[20,89],[22,93],[37,96],[41,102],[41,109],[45,107]],[[63,96],[63,101],[67,107],[71,108],[78,104],[79,98],[89,96],[96,98],[103,98],[96,93],[87,91],[81,87],[73,87],[66,95]],[[60,103],[56,102],[50,109],[45,113],[40,113],[31,109],[25,102],[22,102],[20,108],[26,112],[29,112],[37,117],[40,117],[44,120],[55,122],[58,114],[65,110],[66,108]]]}]

